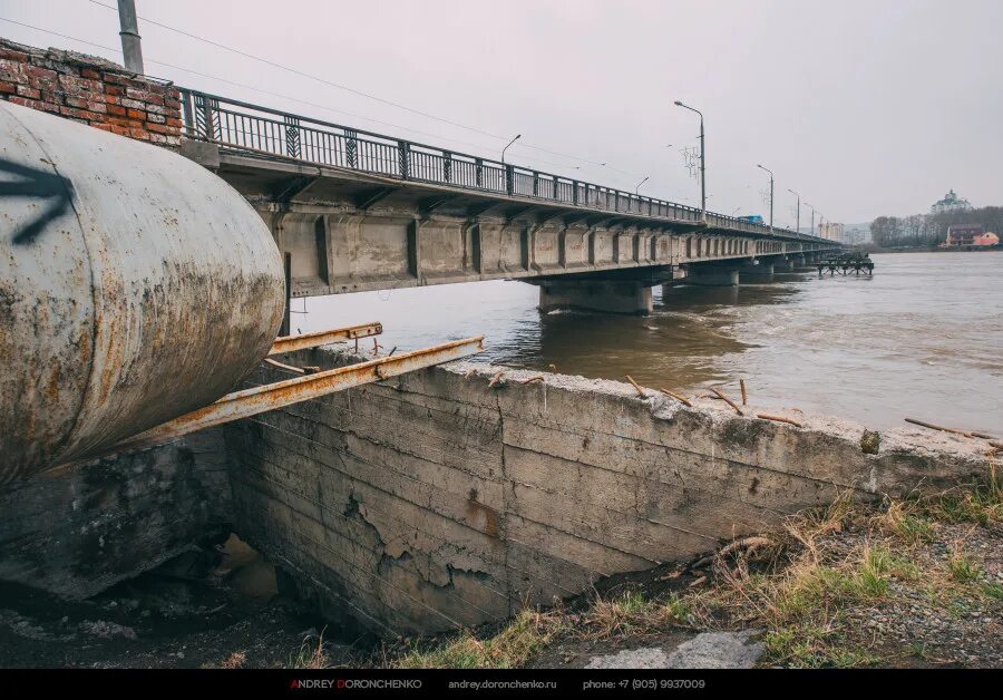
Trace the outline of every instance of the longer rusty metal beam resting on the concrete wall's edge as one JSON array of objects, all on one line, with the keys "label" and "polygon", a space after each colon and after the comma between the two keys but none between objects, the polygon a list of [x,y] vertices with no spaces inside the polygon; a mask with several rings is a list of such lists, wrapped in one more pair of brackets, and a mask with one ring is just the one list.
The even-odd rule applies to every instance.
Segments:
[{"label": "longer rusty metal beam resting on the concrete wall's edge", "polygon": [[397,377],[417,369],[458,360],[484,349],[484,336],[454,340],[368,362],[294,377],[227,393],[215,404],[165,422],[115,446],[114,451],[150,447],[195,430],[306,401],[335,391]]}]

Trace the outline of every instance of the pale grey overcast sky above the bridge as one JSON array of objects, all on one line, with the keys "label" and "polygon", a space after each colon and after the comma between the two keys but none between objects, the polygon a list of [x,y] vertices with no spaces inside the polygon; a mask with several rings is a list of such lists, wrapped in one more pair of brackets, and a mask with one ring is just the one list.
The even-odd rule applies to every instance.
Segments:
[{"label": "pale grey overcast sky above the bridge", "polygon": [[[624,189],[650,176],[643,194],[694,204],[679,149],[698,146],[699,127],[681,99],[705,115],[719,212],[767,214],[757,163],[776,173],[778,224],[793,223],[788,188],[846,223],[925,212],[951,187],[1003,204],[1003,0],[136,4],[140,18],[474,130],[140,19],[150,75],[493,157],[522,134],[510,162]],[[0,17],[108,49],[0,21],[14,41],[120,61],[116,13],[89,0],[4,0]]]}]

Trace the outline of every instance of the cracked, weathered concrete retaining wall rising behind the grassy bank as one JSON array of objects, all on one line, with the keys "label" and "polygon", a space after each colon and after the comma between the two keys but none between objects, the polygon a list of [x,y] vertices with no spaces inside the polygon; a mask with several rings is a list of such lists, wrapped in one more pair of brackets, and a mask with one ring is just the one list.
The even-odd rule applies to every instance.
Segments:
[{"label": "cracked, weathered concrete retaining wall rising behind the grassy bank", "polygon": [[851,422],[786,411],[797,428],[517,370],[488,388],[503,369],[454,362],[231,425],[236,532],[332,616],[428,633],[707,552],[844,490],[900,495],[986,467],[954,436],[886,431],[865,454]]}]

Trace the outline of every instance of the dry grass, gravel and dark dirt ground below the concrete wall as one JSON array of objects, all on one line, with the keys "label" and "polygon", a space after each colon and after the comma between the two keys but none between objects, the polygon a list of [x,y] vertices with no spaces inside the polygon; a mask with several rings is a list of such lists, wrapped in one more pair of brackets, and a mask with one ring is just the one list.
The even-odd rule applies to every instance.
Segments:
[{"label": "dry grass, gravel and dark dirt ground below the concrete wall", "polygon": [[[279,595],[253,552],[197,555],[80,603],[4,591],[4,667],[581,668],[660,660],[750,632],[756,665],[1003,664],[1003,483],[791,516],[690,562],[608,580],[557,607],[460,634],[339,638]],[[621,653],[623,652],[623,653]]]}]

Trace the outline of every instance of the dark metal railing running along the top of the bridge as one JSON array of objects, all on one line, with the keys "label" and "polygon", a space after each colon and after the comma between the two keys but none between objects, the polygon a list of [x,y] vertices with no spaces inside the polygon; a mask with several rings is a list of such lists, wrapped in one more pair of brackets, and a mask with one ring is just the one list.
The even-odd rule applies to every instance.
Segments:
[{"label": "dark metal railing running along the top of the bridge", "polygon": [[[614,213],[700,221],[700,210],[436,146],[181,88],[185,133],[221,146],[318,165]],[[711,229],[804,241],[816,236],[707,213]]]}]

